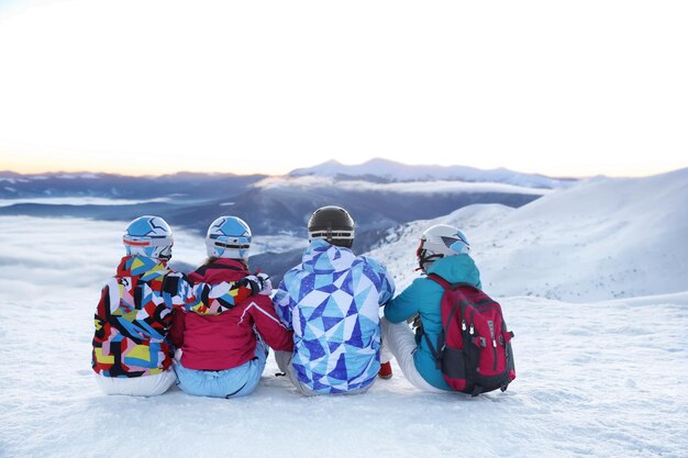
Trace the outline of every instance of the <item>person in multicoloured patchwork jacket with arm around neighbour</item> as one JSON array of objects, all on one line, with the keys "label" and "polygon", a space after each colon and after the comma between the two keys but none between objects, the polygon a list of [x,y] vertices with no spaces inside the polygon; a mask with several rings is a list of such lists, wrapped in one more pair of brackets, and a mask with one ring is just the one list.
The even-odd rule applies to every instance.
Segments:
[{"label": "person in multicoloured patchwork jacket with arm around neighbour", "polygon": [[156,395],[176,381],[167,338],[173,310],[221,313],[259,289],[255,276],[217,287],[193,284],[167,265],[173,235],[159,216],[141,216],[124,233],[126,249],[96,309],[91,367],[107,394]]}]

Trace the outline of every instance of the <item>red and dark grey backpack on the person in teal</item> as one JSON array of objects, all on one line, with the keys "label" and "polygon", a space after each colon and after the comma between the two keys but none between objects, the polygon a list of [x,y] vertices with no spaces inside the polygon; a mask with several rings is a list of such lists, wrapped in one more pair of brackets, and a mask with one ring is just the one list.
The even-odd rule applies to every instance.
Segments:
[{"label": "red and dark grey backpack on the person in teal", "polygon": [[511,338],[501,306],[470,283],[450,283],[431,273],[444,288],[442,332],[430,351],[444,379],[456,391],[478,395],[507,387],[515,378]]}]

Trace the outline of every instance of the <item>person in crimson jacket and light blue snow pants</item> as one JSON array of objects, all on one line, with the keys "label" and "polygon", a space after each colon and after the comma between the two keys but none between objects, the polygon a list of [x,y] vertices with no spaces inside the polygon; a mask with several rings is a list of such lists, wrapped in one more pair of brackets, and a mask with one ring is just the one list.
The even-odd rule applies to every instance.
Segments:
[{"label": "person in crimson jacket and light blue snow pants", "polygon": [[[235,216],[221,216],[208,228],[208,260],[188,277],[217,284],[249,275],[251,230]],[[265,369],[267,346],[292,350],[292,332],[281,324],[269,297],[269,279],[260,294],[238,302],[219,315],[178,312],[171,343],[178,348],[175,371],[182,391],[213,398],[251,394]],[[266,346],[267,344],[267,346]]]}]

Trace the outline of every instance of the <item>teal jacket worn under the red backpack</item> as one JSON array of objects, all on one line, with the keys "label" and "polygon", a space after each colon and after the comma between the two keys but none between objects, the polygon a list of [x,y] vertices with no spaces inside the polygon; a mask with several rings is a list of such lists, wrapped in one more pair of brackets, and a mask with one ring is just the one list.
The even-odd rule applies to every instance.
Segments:
[{"label": "teal jacket worn under the red backpack", "polygon": [[[468,255],[450,256],[437,259],[428,269],[428,273],[436,273],[450,283],[466,282],[481,289],[480,272],[473,258]],[[435,345],[442,329],[440,303],[444,290],[434,281],[421,277],[385,306],[385,317],[391,323],[401,323],[411,316],[420,315],[423,329],[430,342]],[[435,388],[452,391],[444,381],[442,372],[435,366],[428,342],[422,338],[413,354],[413,361],[419,373]]]}]

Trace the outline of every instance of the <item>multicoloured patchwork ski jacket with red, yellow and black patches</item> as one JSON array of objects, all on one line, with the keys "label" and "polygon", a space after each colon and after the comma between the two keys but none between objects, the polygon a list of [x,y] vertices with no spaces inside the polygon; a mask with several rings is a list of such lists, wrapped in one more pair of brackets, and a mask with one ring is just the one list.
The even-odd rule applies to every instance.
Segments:
[{"label": "multicoloured patchwork ski jacket with red, yellow and black patches", "polygon": [[251,288],[240,283],[192,284],[164,260],[125,256],[96,309],[93,371],[104,377],[160,373],[174,354],[167,339],[174,309],[221,313],[249,294]]}]

